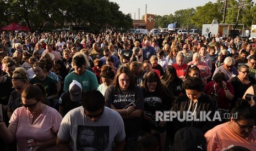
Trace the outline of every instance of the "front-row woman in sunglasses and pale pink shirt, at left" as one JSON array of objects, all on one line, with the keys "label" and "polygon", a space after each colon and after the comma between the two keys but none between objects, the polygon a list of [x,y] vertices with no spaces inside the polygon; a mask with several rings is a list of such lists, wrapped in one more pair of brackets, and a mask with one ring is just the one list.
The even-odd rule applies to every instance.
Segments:
[{"label": "front-row woman in sunglasses and pale pink shirt, at left", "polygon": [[[61,126],[61,115],[53,108],[43,104],[41,89],[29,85],[21,92],[21,106],[10,118],[10,125],[0,123],[0,136],[6,143],[17,141],[18,150],[58,150],[57,132]],[[29,140],[34,144],[27,146]]]}]

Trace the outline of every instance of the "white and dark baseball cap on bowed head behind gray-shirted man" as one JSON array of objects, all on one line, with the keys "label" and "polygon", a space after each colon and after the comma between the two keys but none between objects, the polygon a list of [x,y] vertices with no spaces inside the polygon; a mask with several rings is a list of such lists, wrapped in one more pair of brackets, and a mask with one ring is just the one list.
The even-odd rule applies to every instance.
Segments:
[{"label": "white and dark baseball cap on bowed head behind gray-shirted man", "polygon": [[79,102],[82,98],[82,86],[76,80],[73,80],[69,85],[70,100],[73,102]]}]

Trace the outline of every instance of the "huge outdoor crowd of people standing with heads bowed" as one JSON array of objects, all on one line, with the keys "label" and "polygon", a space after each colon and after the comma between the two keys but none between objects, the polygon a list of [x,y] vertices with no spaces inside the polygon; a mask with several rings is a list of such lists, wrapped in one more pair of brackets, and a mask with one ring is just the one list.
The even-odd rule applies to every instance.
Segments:
[{"label": "huge outdoor crowd of people standing with heads bowed", "polygon": [[254,38],[2,32],[0,71],[1,148],[256,150]]}]

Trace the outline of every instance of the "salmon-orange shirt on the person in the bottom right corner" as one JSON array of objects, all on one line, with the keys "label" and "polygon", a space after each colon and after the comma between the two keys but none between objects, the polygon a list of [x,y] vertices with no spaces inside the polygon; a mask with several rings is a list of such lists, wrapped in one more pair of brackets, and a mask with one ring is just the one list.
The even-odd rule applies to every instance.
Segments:
[{"label": "salmon-orange shirt on the person in the bottom right corner", "polygon": [[204,137],[207,141],[207,150],[222,150],[228,146],[242,146],[249,150],[256,150],[256,130],[250,132],[247,138],[243,138],[233,132],[228,123],[215,126],[213,129],[205,133]]}]

